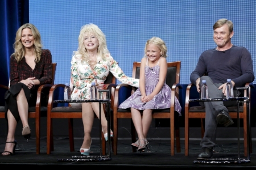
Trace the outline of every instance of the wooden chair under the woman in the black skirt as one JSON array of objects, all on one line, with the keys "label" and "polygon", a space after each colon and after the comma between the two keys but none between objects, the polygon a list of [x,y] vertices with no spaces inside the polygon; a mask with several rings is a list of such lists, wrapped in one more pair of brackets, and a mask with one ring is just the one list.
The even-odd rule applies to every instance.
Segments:
[{"label": "wooden chair under the woman in the black skirt", "polygon": [[[38,96],[36,99],[36,106],[28,108],[28,118],[35,118],[35,134],[36,134],[36,154],[40,154],[40,117],[47,115],[47,103],[42,105],[42,92],[49,92],[49,88],[52,87],[55,80],[55,71],[56,71],[57,63],[52,63],[52,83],[51,84],[43,84],[38,88]],[[9,89],[7,86],[0,85],[0,88]],[[5,107],[0,107],[0,118],[5,118]]]}]

